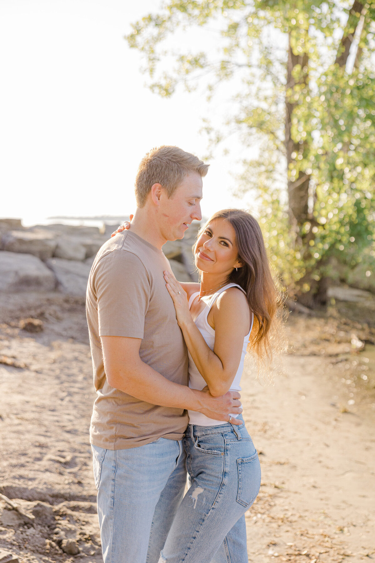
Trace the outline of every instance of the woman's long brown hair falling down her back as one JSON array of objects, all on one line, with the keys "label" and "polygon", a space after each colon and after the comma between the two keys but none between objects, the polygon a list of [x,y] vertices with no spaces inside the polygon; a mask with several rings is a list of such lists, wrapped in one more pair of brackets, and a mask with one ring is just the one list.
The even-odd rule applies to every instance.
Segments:
[{"label": "woman's long brown hair falling down her back", "polygon": [[243,209],[222,209],[210,217],[198,236],[218,218],[229,221],[236,233],[238,259],[242,266],[237,271],[233,269],[228,283],[240,285],[246,293],[249,309],[254,314],[247,351],[255,352],[258,373],[265,373],[273,352],[279,354],[284,348],[278,315],[282,310],[282,296],[272,278],[263,235],[255,218]]}]

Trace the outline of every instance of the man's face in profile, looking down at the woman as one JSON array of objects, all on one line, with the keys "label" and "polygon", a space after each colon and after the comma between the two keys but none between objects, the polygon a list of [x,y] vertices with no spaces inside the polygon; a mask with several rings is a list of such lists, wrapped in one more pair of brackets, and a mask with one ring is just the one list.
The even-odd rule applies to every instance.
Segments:
[{"label": "man's face in profile, looking down at the woman", "polygon": [[159,218],[162,235],[166,240],[182,239],[188,225],[193,220],[200,221],[202,199],[202,178],[197,172],[191,172],[175,189],[168,199],[162,190]]}]

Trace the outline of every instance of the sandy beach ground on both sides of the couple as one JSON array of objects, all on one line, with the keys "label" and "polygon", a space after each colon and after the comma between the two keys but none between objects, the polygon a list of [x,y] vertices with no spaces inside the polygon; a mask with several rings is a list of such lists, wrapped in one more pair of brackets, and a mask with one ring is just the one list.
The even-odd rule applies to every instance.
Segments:
[{"label": "sandy beach ground on both sides of the couple", "polygon": [[[99,562],[83,303],[25,294],[2,296],[0,307],[0,360],[20,366],[0,364],[0,493],[34,515],[0,501],[0,549],[22,563]],[[25,316],[44,330],[21,330]],[[291,315],[287,333],[274,386],[243,378],[263,473],[246,513],[249,561],[375,560],[375,355],[371,345],[353,351],[368,329]]]}]

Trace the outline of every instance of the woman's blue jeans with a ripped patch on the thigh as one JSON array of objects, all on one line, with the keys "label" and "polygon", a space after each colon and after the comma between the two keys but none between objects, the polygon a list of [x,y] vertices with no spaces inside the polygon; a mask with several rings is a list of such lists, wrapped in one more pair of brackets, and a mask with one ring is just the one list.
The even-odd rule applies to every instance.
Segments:
[{"label": "woman's blue jeans with a ripped patch on the thigh", "polygon": [[260,463],[245,424],[189,425],[183,439],[191,486],[159,563],[247,563],[245,512],[260,488]]}]

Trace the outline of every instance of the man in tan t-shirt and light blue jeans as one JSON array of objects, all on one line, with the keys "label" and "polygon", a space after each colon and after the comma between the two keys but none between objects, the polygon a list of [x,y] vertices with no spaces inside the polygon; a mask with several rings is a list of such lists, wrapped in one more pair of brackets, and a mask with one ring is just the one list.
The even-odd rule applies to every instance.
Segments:
[{"label": "man in tan t-shirt and light blue jeans", "polygon": [[90,273],[90,435],[105,563],[159,560],[186,483],[186,409],[223,421],[242,410],[236,393],[187,386],[187,350],[163,276],[162,245],[201,220],[207,169],[173,146],[146,154],[131,228],[103,245]]}]

